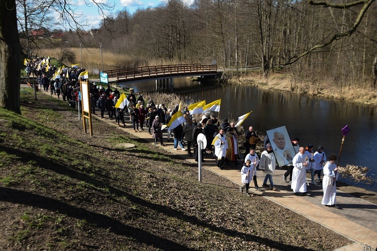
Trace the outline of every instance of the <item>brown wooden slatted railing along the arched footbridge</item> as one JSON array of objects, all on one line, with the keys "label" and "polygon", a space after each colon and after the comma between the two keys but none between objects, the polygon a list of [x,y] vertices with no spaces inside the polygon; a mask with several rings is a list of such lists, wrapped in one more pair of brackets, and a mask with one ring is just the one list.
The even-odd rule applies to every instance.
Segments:
[{"label": "brown wooden slatted railing along the arched footbridge", "polygon": [[125,68],[113,70],[118,82],[192,74],[216,73],[217,65],[182,64]]}]

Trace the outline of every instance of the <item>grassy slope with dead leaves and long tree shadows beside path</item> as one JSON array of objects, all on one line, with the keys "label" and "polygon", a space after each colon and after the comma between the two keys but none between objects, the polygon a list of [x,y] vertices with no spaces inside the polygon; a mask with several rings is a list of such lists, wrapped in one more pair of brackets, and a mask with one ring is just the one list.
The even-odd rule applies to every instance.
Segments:
[{"label": "grassy slope with dead leaves and long tree shadows beside path", "polygon": [[[335,249],[343,236],[66,103],[0,108],[0,246],[8,249]],[[133,143],[124,150],[118,143]],[[285,220],[283,220],[285,219]]]}]

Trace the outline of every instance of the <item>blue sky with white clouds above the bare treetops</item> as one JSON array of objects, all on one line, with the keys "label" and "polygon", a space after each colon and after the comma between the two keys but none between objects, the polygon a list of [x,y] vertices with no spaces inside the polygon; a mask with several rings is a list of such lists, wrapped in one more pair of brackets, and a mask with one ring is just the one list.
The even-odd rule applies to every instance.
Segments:
[{"label": "blue sky with white clouds above the bare treetops", "polygon": [[[146,9],[148,7],[156,7],[161,4],[161,2],[167,0],[96,0],[97,3],[115,5],[114,10],[111,11],[114,15],[117,11],[122,11],[125,8],[133,14],[138,9]],[[187,2],[192,2],[193,0],[186,0]],[[91,7],[87,7],[86,3],[90,3]],[[72,0],[72,3],[77,4],[76,13],[83,14],[84,18],[82,20],[88,21],[88,28],[99,28],[102,17],[98,13],[98,7],[93,5],[92,0]],[[106,13],[109,15],[109,13]]]}]

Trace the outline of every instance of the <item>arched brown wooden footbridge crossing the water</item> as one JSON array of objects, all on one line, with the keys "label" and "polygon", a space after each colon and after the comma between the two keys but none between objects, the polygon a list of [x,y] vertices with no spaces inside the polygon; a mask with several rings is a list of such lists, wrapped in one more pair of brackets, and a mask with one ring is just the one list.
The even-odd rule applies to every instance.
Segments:
[{"label": "arched brown wooden footbridge crossing the water", "polygon": [[108,74],[109,78],[116,78],[117,83],[134,83],[156,80],[157,85],[158,80],[170,79],[170,86],[172,86],[172,78],[175,77],[216,76],[217,65],[158,65],[108,70],[104,72]]}]

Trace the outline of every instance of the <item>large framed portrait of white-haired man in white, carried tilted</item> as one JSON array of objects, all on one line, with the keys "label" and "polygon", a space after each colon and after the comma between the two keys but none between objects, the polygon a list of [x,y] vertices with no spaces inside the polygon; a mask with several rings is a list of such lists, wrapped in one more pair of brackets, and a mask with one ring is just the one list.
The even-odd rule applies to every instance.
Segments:
[{"label": "large framed portrait of white-haired man in white, carried tilted", "polygon": [[292,164],[296,152],[293,148],[286,126],[268,130],[266,133],[272,146],[277,165],[281,168]]}]

